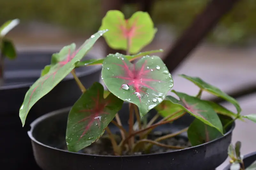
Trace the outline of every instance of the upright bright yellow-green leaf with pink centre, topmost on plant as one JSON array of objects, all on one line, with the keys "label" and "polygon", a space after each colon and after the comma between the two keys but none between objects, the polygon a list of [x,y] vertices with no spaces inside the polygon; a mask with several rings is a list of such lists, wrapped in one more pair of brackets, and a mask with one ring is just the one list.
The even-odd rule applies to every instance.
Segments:
[{"label": "upright bright yellow-green leaf with pink centre, topmost on plant", "polygon": [[154,38],[156,29],[147,12],[137,11],[130,19],[124,19],[121,11],[110,10],[102,19],[100,30],[108,29],[104,38],[113,49],[127,50],[138,53],[144,46],[148,45]]}]

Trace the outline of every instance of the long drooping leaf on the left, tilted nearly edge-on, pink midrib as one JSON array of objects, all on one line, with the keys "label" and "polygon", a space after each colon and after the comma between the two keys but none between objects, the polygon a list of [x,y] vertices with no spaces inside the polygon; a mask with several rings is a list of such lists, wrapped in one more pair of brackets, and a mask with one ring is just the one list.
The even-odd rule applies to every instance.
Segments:
[{"label": "long drooping leaf on the left, tilted nearly edge-on, pink midrib", "polygon": [[[84,44],[73,53],[62,53],[64,60],[53,65],[49,72],[44,76],[40,77],[27,91],[24,101],[20,107],[20,119],[24,126],[28,111],[31,107],[44,95],[49,93],[62,79],[64,79],[75,67],[76,63],[80,61],[84,54],[91,49],[97,39],[100,38],[102,32],[97,32],[93,38],[87,39]],[[65,49],[66,47],[64,47]],[[68,50],[70,51],[70,50]]]}]

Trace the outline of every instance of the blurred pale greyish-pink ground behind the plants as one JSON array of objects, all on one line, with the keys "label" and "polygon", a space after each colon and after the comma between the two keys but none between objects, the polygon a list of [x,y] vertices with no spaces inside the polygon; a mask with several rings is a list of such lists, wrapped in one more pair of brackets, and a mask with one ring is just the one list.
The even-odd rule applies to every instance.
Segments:
[{"label": "blurred pale greyish-pink ground behind the plants", "polygon": [[[44,26],[44,25],[43,25]],[[19,51],[27,50],[59,50],[62,46],[76,42],[77,45],[82,43],[81,37],[72,37],[60,29],[43,27],[31,30],[21,34],[13,33],[13,38]],[[30,33],[29,33],[30,32]],[[49,43],[50,42],[50,43]],[[147,46],[143,51],[153,49],[166,49],[173,42],[172,35],[162,27],[158,27],[158,35],[153,43]],[[104,48],[97,42],[91,54],[98,58],[103,57]],[[161,54],[162,55],[162,54]],[[219,87],[225,92],[233,91],[247,84],[256,84],[256,45],[247,48],[224,48],[203,44],[198,46],[193,53],[176,71],[172,74],[174,79],[173,89],[181,92],[195,95],[198,88],[191,82],[182,79],[178,74],[187,74],[190,76],[201,77],[204,81]],[[203,93],[203,98],[211,95]],[[256,114],[256,94],[245,96],[238,99],[243,109],[242,114]],[[235,111],[235,108],[228,103],[223,103],[228,109]],[[256,124],[251,121],[236,122],[236,128],[233,132],[232,142],[237,140],[242,142],[242,154],[256,151],[256,135],[254,135]],[[228,159],[217,168],[222,170],[228,164]]]}]

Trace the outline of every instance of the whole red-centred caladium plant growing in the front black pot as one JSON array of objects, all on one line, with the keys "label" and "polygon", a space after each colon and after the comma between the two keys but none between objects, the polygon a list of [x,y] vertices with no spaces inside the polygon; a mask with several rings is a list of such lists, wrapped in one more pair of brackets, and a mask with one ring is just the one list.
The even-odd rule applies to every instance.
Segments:
[{"label": "whole red-centred caladium plant growing in the front black pot", "polygon": [[[256,115],[242,116],[239,103],[234,98],[198,77],[181,75],[200,88],[198,95],[190,96],[172,90],[177,97],[167,96],[174,85],[172,75],[160,57],[151,55],[163,50],[139,53],[152,41],[155,32],[156,28],[146,12],[138,11],[130,19],[125,19],[120,11],[108,11],[102,20],[100,30],[87,39],[81,47],[76,50],[76,45],[70,44],[63,47],[59,53],[52,55],[51,63],[45,66],[41,77],[30,87],[20,107],[22,125],[24,126],[33,105],[69,73],[74,76],[82,91],[81,97],[72,106],[68,115],[66,143],[71,152],[78,152],[91,145],[99,140],[105,131],[108,133],[115,155],[122,155],[124,151],[132,154],[138,150],[145,150],[145,153],[148,153],[153,144],[182,149],[161,144],[160,140],[163,138],[152,141],[147,139],[147,136],[157,126],[172,123],[186,113],[195,117],[193,123],[169,137],[187,131],[192,145],[200,145],[220,138],[236,119],[246,118],[256,122]],[[126,54],[108,54],[102,59],[80,61],[100,36],[106,39],[110,47],[126,50]],[[133,55],[130,55],[131,53]],[[137,61],[134,62],[135,60]],[[101,79],[106,86],[105,90],[99,82],[85,89],[75,74],[77,67],[93,65],[102,66]],[[218,103],[202,100],[203,91],[226,99],[236,107],[237,113]],[[128,130],[120,121],[119,114],[122,113],[118,113],[124,102],[129,103]],[[152,109],[156,109],[158,113],[147,122],[147,113]],[[137,119],[137,128],[134,125],[134,115]],[[155,122],[159,116],[163,118]],[[116,141],[111,133],[108,128],[110,123],[120,129],[121,141]],[[137,135],[138,138],[135,138]],[[148,145],[141,145],[141,142],[148,142]]]}]

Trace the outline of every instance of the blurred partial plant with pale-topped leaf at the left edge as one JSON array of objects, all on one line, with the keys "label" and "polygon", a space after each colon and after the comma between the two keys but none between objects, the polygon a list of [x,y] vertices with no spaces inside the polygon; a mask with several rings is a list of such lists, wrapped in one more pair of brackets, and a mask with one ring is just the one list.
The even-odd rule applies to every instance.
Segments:
[{"label": "blurred partial plant with pale-topped leaf at the left edge", "polygon": [[4,83],[4,58],[7,57],[10,60],[16,58],[16,50],[12,40],[5,38],[5,35],[19,23],[19,19],[13,19],[6,21],[2,26],[0,26],[0,87]]}]

